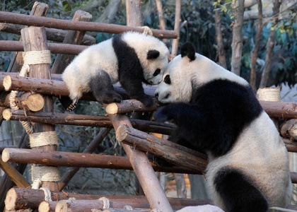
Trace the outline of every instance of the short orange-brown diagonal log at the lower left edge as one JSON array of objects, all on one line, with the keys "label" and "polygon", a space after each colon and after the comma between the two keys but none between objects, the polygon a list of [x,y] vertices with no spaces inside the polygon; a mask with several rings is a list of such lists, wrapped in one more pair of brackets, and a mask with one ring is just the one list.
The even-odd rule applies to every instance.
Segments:
[{"label": "short orange-brown diagonal log at the lower left edge", "polygon": [[18,187],[25,187],[30,188],[30,184],[25,180],[23,175],[20,174],[14,167],[12,167],[9,163],[4,162],[0,158],[0,168],[4,170],[6,175],[8,175],[11,180],[18,186]]}]

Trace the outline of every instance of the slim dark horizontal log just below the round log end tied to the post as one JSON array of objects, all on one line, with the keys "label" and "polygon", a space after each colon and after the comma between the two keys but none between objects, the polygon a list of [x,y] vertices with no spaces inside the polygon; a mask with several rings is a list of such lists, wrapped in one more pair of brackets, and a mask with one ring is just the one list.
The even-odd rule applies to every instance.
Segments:
[{"label": "slim dark horizontal log just below the round log end tied to the post", "polygon": [[[112,128],[112,122],[109,117],[91,116],[69,113],[52,113],[52,112],[24,112],[23,110],[4,110],[6,120],[38,122],[47,124],[66,124],[76,126],[96,126]],[[156,132],[159,134],[170,134],[176,127],[173,124],[161,122],[151,122],[140,119],[129,119],[132,126],[141,131]]]}]

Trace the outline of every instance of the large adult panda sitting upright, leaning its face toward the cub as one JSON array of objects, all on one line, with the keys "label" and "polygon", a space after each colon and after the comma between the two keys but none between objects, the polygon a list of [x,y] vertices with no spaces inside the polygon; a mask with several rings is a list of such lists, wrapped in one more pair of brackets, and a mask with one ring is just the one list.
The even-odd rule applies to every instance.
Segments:
[{"label": "large adult panda sitting upright, leaning its face toward the cub", "polygon": [[154,114],[177,124],[170,140],[207,153],[206,184],[216,206],[238,212],[288,206],[288,153],[247,81],[187,42],[155,94],[172,103]]}]

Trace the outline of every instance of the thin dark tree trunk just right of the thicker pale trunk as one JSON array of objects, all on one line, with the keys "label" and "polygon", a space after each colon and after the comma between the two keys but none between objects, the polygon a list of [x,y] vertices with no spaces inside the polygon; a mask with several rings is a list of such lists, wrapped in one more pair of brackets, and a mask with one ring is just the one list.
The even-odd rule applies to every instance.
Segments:
[{"label": "thin dark tree trunk just right of the thicker pale trunk", "polygon": [[255,38],[255,47],[254,50],[251,52],[251,61],[252,61],[252,69],[250,70],[250,86],[252,87],[252,90],[254,93],[257,93],[257,86],[256,86],[256,76],[257,76],[257,70],[256,70],[256,64],[257,64],[257,57],[259,54],[259,48],[260,48],[260,38],[262,33],[262,0],[257,0],[258,2],[258,25],[257,25],[257,33]]}]

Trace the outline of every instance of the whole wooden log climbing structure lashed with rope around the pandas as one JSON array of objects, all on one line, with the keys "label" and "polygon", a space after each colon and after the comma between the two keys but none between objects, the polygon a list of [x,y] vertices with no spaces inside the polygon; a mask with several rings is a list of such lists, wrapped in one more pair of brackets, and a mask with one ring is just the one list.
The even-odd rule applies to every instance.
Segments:
[{"label": "whole wooden log climbing structure lashed with rope around the pandas", "polygon": [[[163,124],[140,119],[128,119],[127,112],[154,111],[159,107],[159,103],[147,108],[136,100],[129,100],[127,93],[120,86],[115,86],[115,90],[125,99],[122,103],[112,103],[104,105],[106,116],[91,116],[78,114],[61,114],[53,112],[52,97],[69,95],[65,83],[61,81],[60,73],[67,63],[86,48],[83,44],[93,44],[91,37],[84,35],[86,31],[122,33],[127,30],[143,32],[144,29],[111,25],[102,23],[89,23],[90,14],[78,11],[74,20],[58,20],[45,18],[48,7],[45,4],[35,3],[30,16],[16,13],[0,12],[0,23],[5,25],[28,25],[31,27],[21,28],[22,41],[0,41],[1,51],[16,51],[16,58],[13,59],[9,73],[0,73],[0,112],[1,119],[16,120],[21,122],[34,122],[34,132],[52,132],[55,124],[71,124],[79,126],[101,127],[98,136],[93,139],[83,153],[66,153],[57,151],[55,144],[38,146],[32,149],[4,148],[1,149],[1,168],[11,177],[18,187],[10,189],[6,194],[6,210],[18,211],[25,208],[37,209],[40,211],[69,210],[76,211],[84,208],[108,208],[110,211],[128,211],[124,206],[141,208],[139,211],[150,211],[156,208],[160,211],[174,211],[184,206],[194,206],[199,204],[209,204],[209,201],[199,201],[193,199],[172,199],[167,198],[158,182],[154,171],[191,173],[201,175],[204,173],[207,158],[206,155],[192,151],[183,146],[179,146],[170,141],[159,139],[148,134],[155,132],[159,134],[170,134],[175,129],[172,124]],[[7,26],[8,27],[8,26]],[[57,33],[53,28],[63,32],[63,43],[47,43],[47,39]],[[177,38],[177,32],[170,30],[153,30],[154,36],[159,38]],[[61,40],[60,40],[61,41]],[[70,43],[70,44],[69,44]],[[58,54],[52,64],[29,64],[29,76],[19,76],[18,72],[21,64],[22,54],[20,52],[47,51]],[[67,54],[67,55],[66,55]],[[11,90],[21,91],[21,95],[16,97],[18,109],[11,109]],[[145,87],[146,93],[153,96],[154,88]],[[94,100],[93,95],[88,93],[83,96],[84,100]],[[281,117],[284,119],[297,119],[296,104],[290,102],[261,102],[264,110],[271,117]],[[292,122],[293,126],[296,122]],[[291,152],[297,152],[297,144],[291,141],[290,126],[286,126],[283,136],[286,147]],[[127,157],[114,155],[93,155],[91,154],[110,129],[116,130],[117,139],[122,142]],[[52,137],[50,137],[52,138]],[[144,152],[149,152],[161,158],[166,158],[174,163],[174,167],[158,167],[151,165]],[[34,163],[37,167],[71,167],[59,181],[42,180],[41,187],[47,188],[30,189],[30,185],[23,179],[23,176],[8,164],[11,163]],[[75,175],[79,167],[103,167],[112,169],[134,170],[139,179],[144,196],[100,196],[83,194],[66,194],[61,192],[71,177]],[[297,174],[291,173],[292,182],[297,182]],[[50,197],[49,197],[50,196]],[[75,198],[71,199],[71,198]],[[105,199],[104,199],[105,198]],[[57,209],[59,208],[59,209]],[[75,210],[74,210],[75,211]],[[137,210],[134,210],[137,211]]]}]

